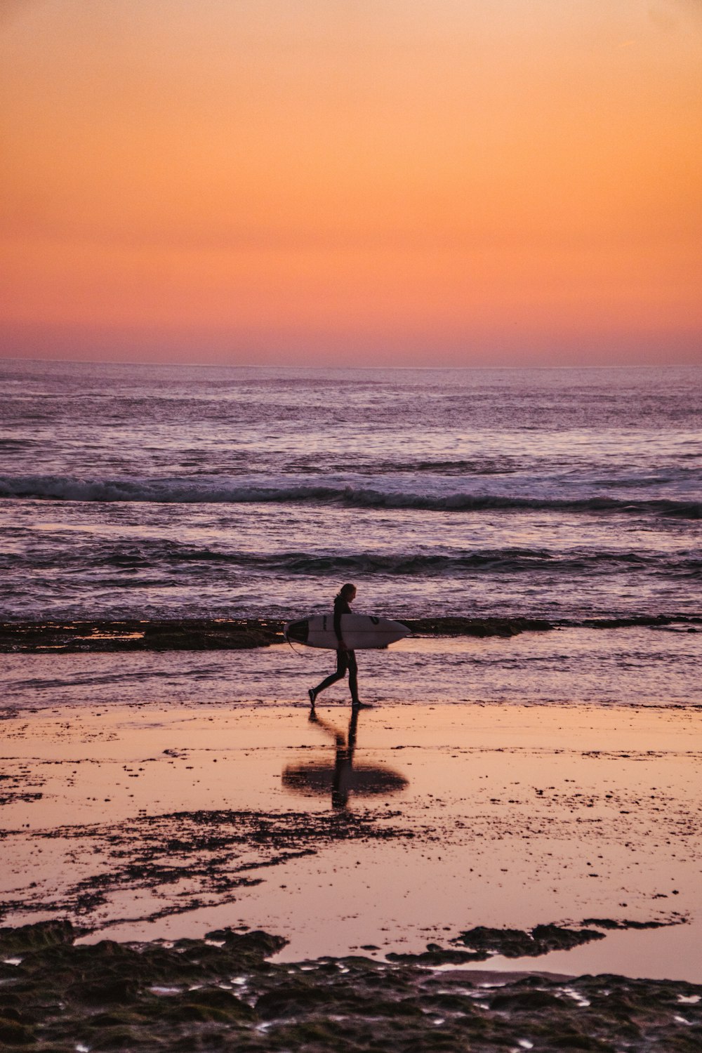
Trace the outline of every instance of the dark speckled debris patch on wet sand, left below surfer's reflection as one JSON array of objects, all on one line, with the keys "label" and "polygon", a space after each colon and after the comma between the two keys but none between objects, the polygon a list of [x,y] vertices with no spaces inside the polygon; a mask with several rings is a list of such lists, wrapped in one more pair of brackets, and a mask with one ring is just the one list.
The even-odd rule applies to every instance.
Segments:
[{"label": "dark speckled debris patch on wet sand, left below surfer's reflection", "polygon": [[[125,920],[159,917],[236,899],[236,890],[258,885],[257,871],[292,859],[314,856],[339,841],[368,842],[413,838],[398,826],[398,812],[305,813],[253,811],[175,812],[140,815],[117,823],[57,827],[35,831],[35,838],[59,839],[68,846],[72,870],[84,871],[99,860],[99,871],[65,883],[60,898],[35,883],[17,898],[0,901],[0,916],[20,913],[71,914],[88,925],[96,910],[120,893],[148,892],[160,906],[137,917],[103,919],[100,928]],[[5,831],[9,843],[22,831]]]}]

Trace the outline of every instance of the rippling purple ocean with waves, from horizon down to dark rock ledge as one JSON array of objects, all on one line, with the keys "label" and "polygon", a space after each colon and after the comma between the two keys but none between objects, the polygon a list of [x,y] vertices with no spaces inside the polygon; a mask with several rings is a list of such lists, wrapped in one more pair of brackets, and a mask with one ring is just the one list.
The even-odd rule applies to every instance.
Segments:
[{"label": "rippling purple ocean with waves, from horizon down to dark rock ledge", "polygon": [[5,619],[699,613],[702,369],[0,362]]}]

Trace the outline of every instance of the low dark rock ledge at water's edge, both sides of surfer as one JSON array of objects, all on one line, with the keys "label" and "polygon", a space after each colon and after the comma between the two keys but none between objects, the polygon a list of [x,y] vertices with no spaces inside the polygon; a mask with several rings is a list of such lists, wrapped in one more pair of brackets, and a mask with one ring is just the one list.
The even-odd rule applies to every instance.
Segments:
[{"label": "low dark rock ledge at water's edge, both sides of surfer", "polygon": [[[400,618],[414,635],[510,637],[557,629],[649,627],[702,632],[702,614],[634,614],[613,618]],[[136,651],[237,651],[283,642],[278,618],[45,618],[0,621],[0,654]]]}]

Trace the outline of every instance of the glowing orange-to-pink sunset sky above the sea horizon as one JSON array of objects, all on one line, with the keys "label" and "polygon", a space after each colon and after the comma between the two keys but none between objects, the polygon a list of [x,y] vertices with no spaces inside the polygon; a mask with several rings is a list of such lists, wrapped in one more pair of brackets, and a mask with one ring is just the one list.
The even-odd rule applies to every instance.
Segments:
[{"label": "glowing orange-to-pink sunset sky above the sea horizon", "polygon": [[0,354],[702,360],[701,0],[2,0]]}]

